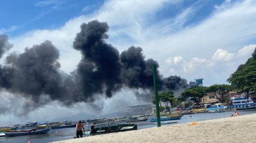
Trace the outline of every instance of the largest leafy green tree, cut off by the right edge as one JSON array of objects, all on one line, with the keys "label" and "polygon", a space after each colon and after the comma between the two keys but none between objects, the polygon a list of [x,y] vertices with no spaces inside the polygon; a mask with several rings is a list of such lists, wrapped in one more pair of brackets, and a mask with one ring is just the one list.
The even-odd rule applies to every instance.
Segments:
[{"label": "largest leafy green tree, cut off by the right edge", "polygon": [[249,98],[249,92],[256,89],[256,49],[252,57],[245,64],[241,64],[227,81],[236,91],[244,92],[246,98]]}]

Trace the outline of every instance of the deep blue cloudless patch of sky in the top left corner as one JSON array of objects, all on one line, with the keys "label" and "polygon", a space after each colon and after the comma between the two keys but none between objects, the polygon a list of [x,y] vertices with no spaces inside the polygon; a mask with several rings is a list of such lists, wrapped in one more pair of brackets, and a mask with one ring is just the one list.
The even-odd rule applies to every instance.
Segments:
[{"label": "deep blue cloudless patch of sky in the top left corner", "polygon": [[[65,22],[92,12],[100,7],[104,1],[82,0],[49,0],[49,1],[0,1],[0,28],[9,30],[12,26],[16,29],[7,31],[9,37],[22,35],[30,30],[53,29],[63,26]],[[84,10],[84,7],[88,9]]]}]

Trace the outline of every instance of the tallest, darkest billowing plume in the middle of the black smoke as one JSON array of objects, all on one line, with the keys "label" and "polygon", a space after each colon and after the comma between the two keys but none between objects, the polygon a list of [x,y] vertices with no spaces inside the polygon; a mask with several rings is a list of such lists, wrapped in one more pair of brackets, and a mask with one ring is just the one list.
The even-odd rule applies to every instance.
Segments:
[{"label": "tallest, darkest billowing plume in the middle of the black smoke", "polygon": [[121,87],[121,63],[117,49],[105,41],[108,24],[95,20],[80,28],[73,42],[74,49],[82,53],[82,60],[74,72],[75,79],[84,96],[105,92],[111,97],[112,92]]}]

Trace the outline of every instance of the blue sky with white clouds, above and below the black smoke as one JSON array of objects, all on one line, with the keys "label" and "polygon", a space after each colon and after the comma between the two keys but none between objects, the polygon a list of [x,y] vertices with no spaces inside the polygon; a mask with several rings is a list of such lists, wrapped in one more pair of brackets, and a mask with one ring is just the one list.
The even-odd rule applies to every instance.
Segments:
[{"label": "blue sky with white clouds, above and below the black smoke", "polygon": [[[92,20],[107,22],[107,42],[119,52],[141,47],[146,59],[158,61],[164,77],[179,75],[187,81],[204,78],[203,85],[210,86],[227,83],[230,74],[251,57],[256,47],[255,13],[255,0],[0,0],[0,34],[7,34],[13,44],[7,54],[51,41],[60,51],[60,70],[69,73],[81,59],[80,52],[72,47],[80,25]],[[15,96],[1,94],[0,104],[11,102],[11,97]],[[22,108],[20,102],[18,108]],[[148,103],[135,98],[133,91],[122,89],[113,98],[100,98],[94,104],[102,105],[102,113],[109,113]],[[84,112],[77,108],[96,112],[89,104],[67,109],[49,103],[28,117],[38,121],[44,119],[42,115],[55,118]]]}]

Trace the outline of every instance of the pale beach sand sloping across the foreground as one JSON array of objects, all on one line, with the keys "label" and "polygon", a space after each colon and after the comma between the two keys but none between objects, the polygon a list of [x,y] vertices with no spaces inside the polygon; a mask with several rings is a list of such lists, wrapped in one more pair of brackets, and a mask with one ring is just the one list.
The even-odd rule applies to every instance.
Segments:
[{"label": "pale beach sand sloping across the foreground", "polygon": [[[231,115],[231,112],[230,112]],[[82,142],[256,142],[256,113],[208,121],[168,125],[75,138],[55,143]]]}]

